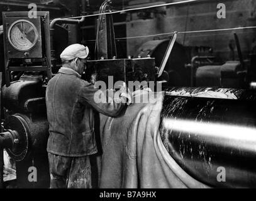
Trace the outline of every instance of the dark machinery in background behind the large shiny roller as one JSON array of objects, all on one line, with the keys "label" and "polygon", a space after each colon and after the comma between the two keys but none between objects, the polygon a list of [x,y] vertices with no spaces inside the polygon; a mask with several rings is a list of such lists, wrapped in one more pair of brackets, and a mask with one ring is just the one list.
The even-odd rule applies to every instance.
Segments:
[{"label": "dark machinery in background behind the large shiny roller", "polygon": [[[238,36],[234,33],[238,60],[223,62],[214,55],[211,47],[182,46],[175,42],[161,79],[167,80],[166,87],[225,87],[242,88],[250,86],[255,80],[255,55],[244,60],[240,50]],[[152,40],[144,43],[137,50],[142,57],[150,55],[160,67],[169,40]],[[235,47],[234,47],[235,48]],[[235,49],[232,53],[235,55]]]}]

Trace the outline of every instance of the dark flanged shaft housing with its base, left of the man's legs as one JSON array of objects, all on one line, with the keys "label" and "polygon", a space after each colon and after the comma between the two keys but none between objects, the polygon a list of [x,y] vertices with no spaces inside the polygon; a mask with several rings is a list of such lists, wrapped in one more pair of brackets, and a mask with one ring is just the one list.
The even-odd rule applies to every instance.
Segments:
[{"label": "dark flanged shaft housing with its base, left of the man's legs", "polygon": [[[48,122],[46,117],[9,115],[0,133],[0,148],[5,148],[16,161],[17,186],[19,188],[48,188],[50,173],[47,158]],[[37,172],[36,182],[30,182],[30,167]]]}]

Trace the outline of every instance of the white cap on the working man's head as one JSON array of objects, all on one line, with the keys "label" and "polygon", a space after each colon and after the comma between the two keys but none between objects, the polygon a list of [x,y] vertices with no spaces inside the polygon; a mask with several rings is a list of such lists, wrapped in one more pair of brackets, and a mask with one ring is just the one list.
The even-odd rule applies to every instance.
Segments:
[{"label": "white cap on the working man's head", "polygon": [[69,45],[63,52],[60,54],[62,60],[72,60],[74,58],[86,58],[89,54],[89,49],[87,46],[81,44]]}]

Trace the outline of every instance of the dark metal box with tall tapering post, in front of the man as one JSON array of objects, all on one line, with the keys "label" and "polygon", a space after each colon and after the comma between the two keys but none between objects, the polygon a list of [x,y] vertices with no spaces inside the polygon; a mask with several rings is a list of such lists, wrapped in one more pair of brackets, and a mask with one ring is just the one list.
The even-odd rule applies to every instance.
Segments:
[{"label": "dark metal box with tall tapering post, in front of the man", "polygon": [[[109,3],[110,1],[104,1],[100,13],[111,12]],[[87,81],[94,83],[101,80],[107,87],[110,76],[113,76],[114,80],[111,80],[113,84],[123,81],[127,86],[129,81],[138,81],[142,84],[141,87],[148,87],[148,82],[155,81],[154,58],[118,58],[111,14],[99,16],[95,51],[96,60],[87,62],[86,77],[84,77]]]}]

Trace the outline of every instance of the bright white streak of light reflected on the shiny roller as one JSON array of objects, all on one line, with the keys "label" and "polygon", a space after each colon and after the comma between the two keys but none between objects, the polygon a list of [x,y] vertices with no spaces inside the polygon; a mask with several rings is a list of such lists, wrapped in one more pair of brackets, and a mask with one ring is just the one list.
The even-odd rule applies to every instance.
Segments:
[{"label": "bright white streak of light reflected on the shiny roller", "polygon": [[[256,151],[256,129],[214,122],[196,122],[182,119],[163,119],[165,129],[177,131],[191,141],[198,140],[206,144]],[[179,136],[179,137],[181,137]],[[188,136],[188,137],[187,137]]]}]

